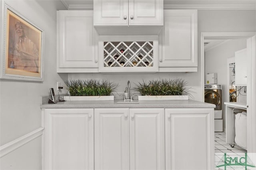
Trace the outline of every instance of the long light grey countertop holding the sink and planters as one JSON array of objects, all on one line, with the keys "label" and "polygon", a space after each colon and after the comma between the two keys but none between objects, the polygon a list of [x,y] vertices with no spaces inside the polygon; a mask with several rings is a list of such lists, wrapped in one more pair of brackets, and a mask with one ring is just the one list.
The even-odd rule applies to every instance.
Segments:
[{"label": "long light grey countertop holding the sink and planters", "polygon": [[137,100],[138,104],[117,104],[122,100],[65,101],[56,104],[42,104],[41,108],[214,108],[214,104],[195,100]]}]

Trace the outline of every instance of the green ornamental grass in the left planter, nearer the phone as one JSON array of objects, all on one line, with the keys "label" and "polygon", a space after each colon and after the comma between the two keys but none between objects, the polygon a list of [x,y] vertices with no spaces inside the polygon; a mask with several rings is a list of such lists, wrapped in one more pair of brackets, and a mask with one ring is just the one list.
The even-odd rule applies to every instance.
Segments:
[{"label": "green ornamental grass in the left planter, nearer the phone", "polygon": [[67,80],[65,81],[70,96],[110,96],[118,84],[109,80]]}]

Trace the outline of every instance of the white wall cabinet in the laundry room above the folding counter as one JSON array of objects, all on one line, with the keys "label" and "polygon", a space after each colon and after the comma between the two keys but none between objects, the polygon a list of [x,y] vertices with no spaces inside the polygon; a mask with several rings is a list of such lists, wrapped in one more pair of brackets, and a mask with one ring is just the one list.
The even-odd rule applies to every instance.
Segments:
[{"label": "white wall cabinet in the laundry room above the folding counter", "polygon": [[235,52],[235,84],[247,86],[247,49]]}]

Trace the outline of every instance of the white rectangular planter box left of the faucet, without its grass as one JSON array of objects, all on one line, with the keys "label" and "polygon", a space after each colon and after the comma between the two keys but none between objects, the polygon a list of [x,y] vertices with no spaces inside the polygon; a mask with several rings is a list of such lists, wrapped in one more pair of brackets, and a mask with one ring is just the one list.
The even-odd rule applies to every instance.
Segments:
[{"label": "white rectangular planter box left of the faucet, without its grass", "polygon": [[77,100],[114,100],[114,96],[64,96],[66,101]]}]

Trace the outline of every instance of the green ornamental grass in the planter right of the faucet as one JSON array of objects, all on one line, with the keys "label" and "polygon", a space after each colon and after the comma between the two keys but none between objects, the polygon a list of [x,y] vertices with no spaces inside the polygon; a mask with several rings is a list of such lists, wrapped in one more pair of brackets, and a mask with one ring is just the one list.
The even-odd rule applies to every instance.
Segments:
[{"label": "green ornamental grass in the planter right of the faucet", "polygon": [[174,80],[159,79],[138,82],[135,84],[134,90],[139,92],[142,96],[173,96],[173,95],[188,95],[192,97],[188,88],[187,82],[181,78]]}]

